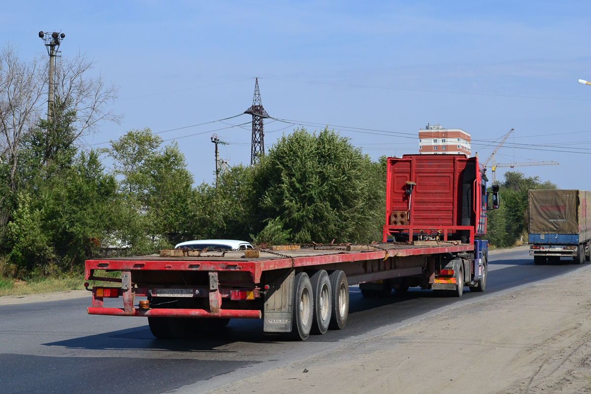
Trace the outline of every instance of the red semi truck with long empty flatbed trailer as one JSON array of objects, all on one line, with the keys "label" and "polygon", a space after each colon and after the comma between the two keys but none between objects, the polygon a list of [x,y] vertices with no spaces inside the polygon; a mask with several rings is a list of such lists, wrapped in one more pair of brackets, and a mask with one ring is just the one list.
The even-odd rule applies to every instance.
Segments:
[{"label": "red semi truck with long empty flatbed trailer", "polygon": [[[486,181],[475,157],[388,158],[382,243],[163,250],[159,256],[89,260],[87,280],[116,285],[85,284],[92,291],[88,313],[147,317],[157,338],[223,327],[230,318],[262,318],[264,331],[304,340],[345,327],[350,285],[359,284],[364,297],[409,287],[454,297],[464,286],[483,291]],[[121,278],[100,275],[105,271],[121,271]],[[105,298],[122,298],[123,305],[106,307]]]}]

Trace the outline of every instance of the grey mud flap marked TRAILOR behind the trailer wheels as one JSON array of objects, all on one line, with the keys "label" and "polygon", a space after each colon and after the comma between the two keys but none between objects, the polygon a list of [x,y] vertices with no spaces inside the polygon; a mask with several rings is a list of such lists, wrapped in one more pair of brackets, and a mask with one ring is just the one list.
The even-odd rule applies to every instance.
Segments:
[{"label": "grey mud flap marked TRAILOR behind the trailer wheels", "polygon": [[267,275],[269,289],[265,294],[263,330],[266,333],[290,333],[296,271],[282,269]]}]

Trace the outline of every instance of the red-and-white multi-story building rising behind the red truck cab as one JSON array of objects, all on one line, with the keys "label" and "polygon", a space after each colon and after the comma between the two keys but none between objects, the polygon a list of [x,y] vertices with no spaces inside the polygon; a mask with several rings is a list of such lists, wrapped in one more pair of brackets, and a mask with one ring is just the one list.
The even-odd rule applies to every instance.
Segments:
[{"label": "red-and-white multi-story building rising behind the red truck cab", "polygon": [[470,156],[470,134],[462,129],[427,125],[418,131],[419,154],[465,154]]}]

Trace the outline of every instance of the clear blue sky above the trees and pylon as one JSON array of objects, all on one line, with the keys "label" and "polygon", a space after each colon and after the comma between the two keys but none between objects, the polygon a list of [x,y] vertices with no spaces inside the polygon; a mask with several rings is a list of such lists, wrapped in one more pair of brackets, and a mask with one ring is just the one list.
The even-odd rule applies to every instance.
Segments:
[{"label": "clear blue sky above the trees and pylon", "polygon": [[[563,189],[591,190],[589,1],[7,2],[3,44],[46,56],[38,31],[66,34],[118,86],[114,112],[85,138],[108,147],[150,128],[183,152],[197,184],[220,158],[250,163],[258,77],[265,146],[328,126],[372,159],[418,153],[427,123],[472,135],[472,154]],[[495,143],[496,141],[496,143]],[[505,170],[497,168],[503,179]],[[490,174],[490,169],[488,174]]]}]

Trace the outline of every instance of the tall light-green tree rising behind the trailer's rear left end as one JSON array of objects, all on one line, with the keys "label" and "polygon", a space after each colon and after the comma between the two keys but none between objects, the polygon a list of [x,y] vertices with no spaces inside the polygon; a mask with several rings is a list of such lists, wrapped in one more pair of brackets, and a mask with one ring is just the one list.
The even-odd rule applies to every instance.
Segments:
[{"label": "tall light-green tree rising behind the trailer's rear left end", "polygon": [[119,179],[119,239],[132,253],[168,248],[187,233],[193,177],[175,143],[150,129],[131,130],[111,142],[113,175]]}]

